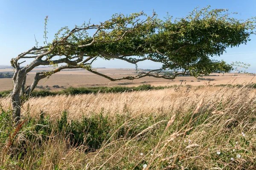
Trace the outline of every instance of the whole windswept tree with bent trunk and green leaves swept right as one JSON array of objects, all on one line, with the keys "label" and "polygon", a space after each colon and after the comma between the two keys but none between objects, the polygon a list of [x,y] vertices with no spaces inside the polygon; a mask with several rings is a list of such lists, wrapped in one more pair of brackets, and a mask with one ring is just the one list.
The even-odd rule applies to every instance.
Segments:
[{"label": "whole windswept tree with bent trunk and green leaves swept right", "polygon": [[[46,18],[47,23],[47,18]],[[94,30],[94,33],[89,34]],[[232,66],[212,59],[228,47],[247,43],[255,34],[253,19],[237,20],[226,9],[195,9],[184,18],[160,20],[156,14],[143,12],[115,14],[99,24],[83,24],[72,30],[61,28],[45,46],[32,47],[11,60],[15,69],[11,94],[13,118],[20,119],[20,97],[29,95],[41,79],[63,69],[84,68],[111,81],[157,77],[175,79],[178,75],[194,77],[212,72],[230,72]],[[46,38],[46,29],[44,37]],[[21,67],[20,59],[34,59]],[[145,60],[162,63],[159,69],[114,79],[92,68],[97,58],[119,59],[137,64]],[[52,65],[51,71],[37,72],[32,85],[25,87],[26,74],[40,65]],[[26,90],[25,90],[26,88]]]}]

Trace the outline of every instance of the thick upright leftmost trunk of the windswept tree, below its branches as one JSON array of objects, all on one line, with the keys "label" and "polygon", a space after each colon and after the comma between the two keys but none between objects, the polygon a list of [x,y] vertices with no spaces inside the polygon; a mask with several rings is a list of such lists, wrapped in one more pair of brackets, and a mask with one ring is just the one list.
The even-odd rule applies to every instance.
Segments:
[{"label": "thick upright leftmost trunk of the windswept tree, below its branches", "polygon": [[[23,80],[26,77],[25,71],[17,71],[17,76],[13,77],[12,99],[12,117],[15,122],[20,120],[20,93],[23,85]],[[26,80],[25,80],[26,81]]]}]

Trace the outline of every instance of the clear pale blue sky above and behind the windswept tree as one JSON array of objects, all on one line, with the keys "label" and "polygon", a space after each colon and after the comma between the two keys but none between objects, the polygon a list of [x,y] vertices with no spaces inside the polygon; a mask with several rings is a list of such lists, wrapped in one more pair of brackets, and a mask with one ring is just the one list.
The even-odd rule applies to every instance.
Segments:
[{"label": "clear pale blue sky above and behind the windswept tree", "polygon": [[[166,12],[175,17],[184,17],[196,6],[210,5],[212,8],[226,8],[238,12],[239,19],[256,17],[256,0],[0,0],[0,65],[10,65],[10,60],[35,45],[43,45],[44,18],[49,16],[48,41],[53,39],[59,28],[71,29],[84,21],[91,23],[108,20],[112,14],[130,14],[156,11],[163,19]],[[35,37],[34,37],[35,34]],[[228,63],[241,61],[251,64],[247,70],[256,72],[256,36],[251,36],[247,45],[229,48],[227,53],[216,59]],[[122,61],[97,60],[93,67],[135,68]],[[139,68],[158,68],[152,62],[142,62]]]}]

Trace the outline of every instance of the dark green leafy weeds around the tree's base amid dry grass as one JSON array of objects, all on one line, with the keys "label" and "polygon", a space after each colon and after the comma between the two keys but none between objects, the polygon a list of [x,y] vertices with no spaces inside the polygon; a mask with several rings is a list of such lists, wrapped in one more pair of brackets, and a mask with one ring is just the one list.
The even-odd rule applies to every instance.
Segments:
[{"label": "dark green leafy weeds around the tree's base amid dry grass", "polygon": [[[117,116],[116,119],[103,116],[104,110],[100,113],[92,113],[90,116],[82,116],[81,119],[68,121],[67,111],[63,111],[60,118],[56,120],[50,119],[44,112],[39,113],[38,117],[23,116],[22,120],[26,120],[22,128],[17,134],[22,133],[23,141],[14,144],[18,149],[26,147],[27,142],[30,145],[43,145],[51,139],[50,136],[62,136],[70,141],[70,146],[79,147],[81,145],[88,146],[87,151],[99,149],[102,144],[111,138],[111,135],[118,130],[116,135],[112,136],[113,140],[119,139],[121,136],[134,137],[143,129],[153,125],[156,121],[154,116],[150,116],[147,121],[142,119],[131,119],[128,115]],[[164,117],[161,117],[163,119]],[[121,127],[125,121],[129,119],[131,127]],[[158,119],[158,118],[157,118]],[[168,118],[165,118],[168,119]],[[143,125],[137,126],[143,120]],[[4,144],[15,131],[15,123],[12,119],[11,111],[1,111],[0,113],[0,144]],[[2,133],[3,132],[3,133]],[[14,140],[17,136],[14,136]],[[21,154],[25,154],[25,150],[20,150]]]}]

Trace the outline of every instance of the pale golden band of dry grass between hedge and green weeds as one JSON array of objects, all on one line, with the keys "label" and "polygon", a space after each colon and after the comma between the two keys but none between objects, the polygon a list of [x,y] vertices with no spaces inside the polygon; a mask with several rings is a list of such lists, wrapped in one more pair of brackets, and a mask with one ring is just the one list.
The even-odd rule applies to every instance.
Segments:
[{"label": "pale golden band of dry grass between hedge and green weeds", "polygon": [[[248,93],[242,94],[242,92]],[[49,113],[50,116],[58,116],[64,110],[69,112],[71,118],[98,113],[104,108],[105,113],[114,115],[128,109],[131,114],[148,116],[148,114],[159,115],[161,113],[174,112],[182,108],[188,111],[191,105],[198,103],[204,98],[205,103],[214,105],[221,100],[232,99],[240,102],[239,99],[247,95],[248,99],[255,96],[256,90],[233,89],[223,87],[177,87],[157,91],[136,91],[132,93],[117,94],[82,94],[76,96],[47,96],[31,98],[23,105],[23,114],[29,107],[30,113],[35,116],[41,111]],[[237,99],[234,99],[237,98]],[[0,104],[7,109],[9,98],[0,99]],[[234,105],[237,103],[233,103]],[[226,108],[228,109],[228,108]]]}]

